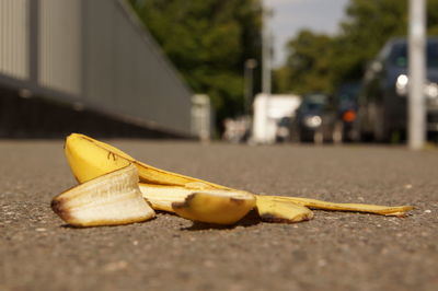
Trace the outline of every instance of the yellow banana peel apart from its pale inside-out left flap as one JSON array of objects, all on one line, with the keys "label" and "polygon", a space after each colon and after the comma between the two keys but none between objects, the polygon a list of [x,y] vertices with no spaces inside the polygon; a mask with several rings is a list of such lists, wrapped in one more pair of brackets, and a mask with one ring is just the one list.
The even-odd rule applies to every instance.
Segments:
[{"label": "yellow banana peel apart from its pale inside-out left flap", "polygon": [[411,206],[333,203],[300,197],[254,195],[153,167],[113,146],[80,133],[67,138],[65,154],[79,183],[88,183],[132,164],[138,171],[142,197],[153,209],[200,222],[233,224],[254,208],[263,221],[287,223],[312,219],[313,212],[309,208],[399,217],[413,209]]}]

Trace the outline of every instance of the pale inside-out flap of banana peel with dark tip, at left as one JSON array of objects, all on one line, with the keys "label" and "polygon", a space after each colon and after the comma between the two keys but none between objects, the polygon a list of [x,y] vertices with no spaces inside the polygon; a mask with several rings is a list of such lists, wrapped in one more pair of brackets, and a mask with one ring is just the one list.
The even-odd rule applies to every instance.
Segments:
[{"label": "pale inside-out flap of banana peel with dark tip, at left", "polygon": [[138,188],[134,165],[71,188],[51,200],[51,209],[73,226],[119,225],[155,216]]}]

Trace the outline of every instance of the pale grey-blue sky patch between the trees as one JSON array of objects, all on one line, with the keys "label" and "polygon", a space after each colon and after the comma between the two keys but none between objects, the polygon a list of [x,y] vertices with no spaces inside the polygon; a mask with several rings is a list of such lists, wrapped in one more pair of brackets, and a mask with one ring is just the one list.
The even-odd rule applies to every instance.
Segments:
[{"label": "pale grey-blue sky patch between the trees", "polygon": [[336,33],[348,0],[264,0],[274,11],[274,67],[286,59],[285,45],[301,28],[319,33]]}]

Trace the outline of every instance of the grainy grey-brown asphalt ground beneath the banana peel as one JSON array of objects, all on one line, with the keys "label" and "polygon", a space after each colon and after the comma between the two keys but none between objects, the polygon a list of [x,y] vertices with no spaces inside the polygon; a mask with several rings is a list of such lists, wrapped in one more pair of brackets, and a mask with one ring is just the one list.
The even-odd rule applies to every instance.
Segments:
[{"label": "grainy grey-brown asphalt ground beneath the banana peel", "polygon": [[258,194],[413,205],[406,218],[315,210],[215,229],[160,213],[73,229],[62,141],[0,141],[0,290],[437,290],[438,150],[112,140],[138,160]]}]

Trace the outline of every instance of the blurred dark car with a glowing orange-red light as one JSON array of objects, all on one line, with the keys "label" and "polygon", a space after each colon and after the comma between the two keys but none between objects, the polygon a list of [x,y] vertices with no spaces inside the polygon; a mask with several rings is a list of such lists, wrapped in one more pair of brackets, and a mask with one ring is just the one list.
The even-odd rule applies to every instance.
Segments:
[{"label": "blurred dark car with a glowing orange-red light", "polygon": [[334,141],[355,141],[358,139],[358,132],[355,128],[358,110],[358,95],[360,92],[360,82],[348,82],[342,84],[335,95],[337,104],[337,120],[334,131]]}]

